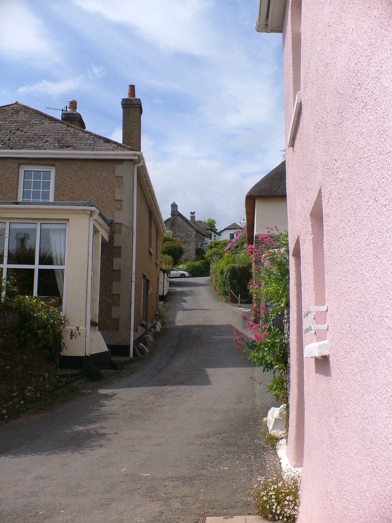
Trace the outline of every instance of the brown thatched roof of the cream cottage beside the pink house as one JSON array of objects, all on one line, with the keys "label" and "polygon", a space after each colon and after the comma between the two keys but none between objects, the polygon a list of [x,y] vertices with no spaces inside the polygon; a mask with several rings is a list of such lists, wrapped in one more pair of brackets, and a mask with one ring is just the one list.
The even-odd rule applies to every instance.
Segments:
[{"label": "brown thatched roof of the cream cottage beside the pink house", "polygon": [[277,165],[248,191],[245,197],[246,233],[248,245],[255,239],[256,198],[286,198],[286,161]]}]

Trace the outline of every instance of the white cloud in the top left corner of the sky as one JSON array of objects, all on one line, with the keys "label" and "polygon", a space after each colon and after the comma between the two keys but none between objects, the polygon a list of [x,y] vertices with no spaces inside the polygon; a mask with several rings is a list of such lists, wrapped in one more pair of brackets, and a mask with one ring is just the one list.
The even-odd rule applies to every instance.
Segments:
[{"label": "white cloud in the top left corner of the sky", "polygon": [[56,60],[52,34],[22,0],[0,4],[0,53],[8,60]]}]

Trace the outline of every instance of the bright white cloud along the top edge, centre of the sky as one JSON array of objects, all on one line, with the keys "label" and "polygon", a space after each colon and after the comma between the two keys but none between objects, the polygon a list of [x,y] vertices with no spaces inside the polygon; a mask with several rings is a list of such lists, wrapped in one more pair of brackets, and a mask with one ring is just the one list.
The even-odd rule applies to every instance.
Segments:
[{"label": "bright white cloud along the top edge, centre of the sky", "polygon": [[212,52],[207,0],[74,0],[79,7],[132,27],[148,42],[168,51],[205,55]]}]

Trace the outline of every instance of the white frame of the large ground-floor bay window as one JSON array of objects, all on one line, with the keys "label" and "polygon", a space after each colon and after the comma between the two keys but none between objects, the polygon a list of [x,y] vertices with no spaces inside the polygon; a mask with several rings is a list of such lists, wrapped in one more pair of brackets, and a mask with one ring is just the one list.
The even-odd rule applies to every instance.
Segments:
[{"label": "white frame of the large ground-floor bay window", "polygon": [[[39,269],[61,269],[64,270],[64,291],[61,304],[61,315],[65,315],[65,289],[67,285],[67,251],[68,251],[68,229],[69,222],[66,220],[26,220],[22,218],[0,220],[0,223],[5,223],[5,238],[4,238],[4,259],[0,261],[0,268],[3,269],[3,279],[7,278],[8,269],[33,269],[34,270],[34,284],[33,295],[37,296],[38,292],[38,270]],[[9,243],[9,225],[10,223],[33,223],[37,225],[36,232],[36,255],[34,265],[19,265],[8,264],[8,243]],[[65,229],[65,259],[64,265],[41,265],[39,264],[40,240],[41,240],[41,224],[61,223],[66,225]],[[4,292],[4,291],[3,291]]]}]

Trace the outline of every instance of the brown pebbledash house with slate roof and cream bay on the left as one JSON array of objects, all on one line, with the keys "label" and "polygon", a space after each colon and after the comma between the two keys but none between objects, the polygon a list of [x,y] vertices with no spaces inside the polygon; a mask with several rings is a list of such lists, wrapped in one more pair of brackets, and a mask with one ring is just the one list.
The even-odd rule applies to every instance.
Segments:
[{"label": "brown pebbledash house with slate roof and cream bay on the left", "polygon": [[0,107],[0,271],[57,304],[80,337],[63,366],[132,355],[158,315],[165,232],[141,149],[142,105],[122,99],[123,143],[85,130],[76,101],[53,118]]}]

